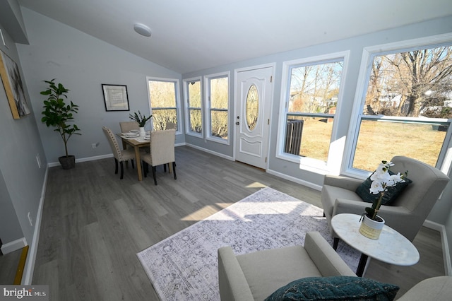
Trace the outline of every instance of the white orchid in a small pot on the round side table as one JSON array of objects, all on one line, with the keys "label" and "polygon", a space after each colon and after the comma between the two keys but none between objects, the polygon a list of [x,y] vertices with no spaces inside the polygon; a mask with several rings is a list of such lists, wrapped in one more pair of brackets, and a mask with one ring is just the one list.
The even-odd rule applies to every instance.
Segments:
[{"label": "white orchid in a small pot on the round side table", "polygon": [[371,185],[369,192],[371,194],[378,194],[379,196],[372,202],[371,207],[365,208],[365,213],[362,215],[362,224],[359,227],[359,232],[371,239],[378,240],[381,230],[384,226],[384,220],[377,213],[381,207],[381,200],[384,194],[388,191],[388,187],[396,186],[397,183],[405,182],[405,177],[408,171],[404,174],[392,174],[389,172],[391,166],[394,164],[388,161],[381,161],[379,167],[376,168],[371,175]]}]

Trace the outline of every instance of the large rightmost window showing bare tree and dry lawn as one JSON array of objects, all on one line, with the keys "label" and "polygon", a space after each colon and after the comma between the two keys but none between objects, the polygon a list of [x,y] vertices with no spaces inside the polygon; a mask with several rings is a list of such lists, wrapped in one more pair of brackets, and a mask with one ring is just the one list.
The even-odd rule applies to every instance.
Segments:
[{"label": "large rightmost window showing bare tree and dry lawn", "polygon": [[394,155],[441,165],[451,131],[452,43],[413,45],[365,49],[371,64],[357,92],[352,169],[371,171]]}]

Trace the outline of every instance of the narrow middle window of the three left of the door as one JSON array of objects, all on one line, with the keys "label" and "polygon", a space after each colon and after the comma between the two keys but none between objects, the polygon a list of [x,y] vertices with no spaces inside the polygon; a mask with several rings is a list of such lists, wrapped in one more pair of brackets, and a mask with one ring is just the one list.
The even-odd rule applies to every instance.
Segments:
[{"label": "narrow middle window of the three left of the door", "polygon": [[201,78],[184,81],[186,101],[186,133],[203,136],[203,114],[201,105]]}]

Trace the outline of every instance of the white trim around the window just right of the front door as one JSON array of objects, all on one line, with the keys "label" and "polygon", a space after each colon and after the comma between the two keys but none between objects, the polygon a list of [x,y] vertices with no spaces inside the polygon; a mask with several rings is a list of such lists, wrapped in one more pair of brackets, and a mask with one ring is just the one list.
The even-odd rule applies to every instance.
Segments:
[{"label": "white trim around the window just right of the front door", "polygon": [[[308,170],[310,172],[316,172],[321,175],[326,174],[339,174],[340,172],[340,163],[343,157],[343,151],[345,146],[345,139],[338,138],[338,124],[341,107],[343,106],[343,95],[345,90],[345,82],[347,76],[347,66],[348,59],[350,57],[350,50],[343,52],[335,52],[331,54],[323,54],[316,57],[308,57],[304,59],[295,59],[292,61],[284,61],[283,62],[283,76],[281,81],[281,95],[280,95],[280,118],[278,121],[278,135],[277,135],[277,145],[276,148],[276,158],[286,160],[292,163],[299,164],[299,168],[301,170]],[[298,64],[316,64],[321,63],[322,61],[328,61],[333,59],[341,59],[343,61],[343,69],[341,72],[340,78],[340,87],[339,87],[339,95],[338,95],[338,105],[336,107],[336,113],[334,117],[333,130],[331,131],[331,143],[330,149],[328,151],[328,159],[326,162],[322,160],[317,160],[314,158],[304,158],[299,155],[291,155],[288,153],[284,153],[283,145],[285,139],[285,122],[287,115],[287,107],[286,107],[286,95],[287,90],[290,89],[290,75],[289,69],[293,65]]]}]

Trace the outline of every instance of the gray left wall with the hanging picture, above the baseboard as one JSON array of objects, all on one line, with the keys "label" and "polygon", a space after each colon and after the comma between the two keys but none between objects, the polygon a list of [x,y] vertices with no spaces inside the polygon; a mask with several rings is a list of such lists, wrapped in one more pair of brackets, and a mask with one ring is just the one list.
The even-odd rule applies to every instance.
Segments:
[{"label": "gray left wall with the hanging picture, above the baseboard", "polygon": [[[16,61],[19,69],[23,70],[20,67],[16,44],[6,29],[0,27],[8,46],[5,47],[0,42],[1,51]],[[25,84],[25,97],[30,104],[27,82],[24,81],[23,73],[21,76]],[[22,237],[31,244],[47,161],[36,128],[35,116],[29,114],[13,119],[3,86],[0,88],[0,129],[0,237],[4,244]],[[38,154],[42,160],[42,168],[37,166]],[[33,227],[28,221],[28,212],[32,217]]]}]

